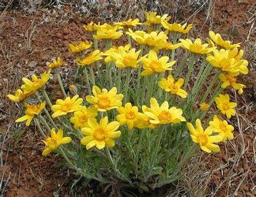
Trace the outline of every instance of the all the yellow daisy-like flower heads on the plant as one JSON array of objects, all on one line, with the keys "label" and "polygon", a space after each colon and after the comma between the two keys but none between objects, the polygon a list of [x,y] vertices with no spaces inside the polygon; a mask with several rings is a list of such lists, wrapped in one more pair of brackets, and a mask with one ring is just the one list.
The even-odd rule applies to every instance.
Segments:
[{"label": "all the yellow daisy-like flower heads on the plant", "polygon": [[[175,74],[172,75],[172,67],[176,64],[176,61],[173,59],[174,56],[171,58],[168,56],[169,51],[174,52],[177,48],[181,47],[190,52],[192,57],[205,55],[205,60],[220,73],[218,78],[223,82],[221,88],[232,87],[238,90],[239,94],[242,94],[242,89],[245,86],[237,83],[236,77],[239,74],[248,73],[248,62],[242,59],[244,52],[238,50],[240,43],[231,44],[231,41],[223,40],[220,34],[215,34],[212,31],[209,32],[211,39],[208,39],[207,43],[202,43],[200,38],[194,41],[190,39],[179,39],[182,34],[192,29],[192,24],[170,24],[170,19],[171,17],[168,15],[158,16],[156,12],[146,12],[146,22],[144,23],[140,23],[139,19],[129,19],[125,22],[114,23],[113,25],[91,22],[83,26],[84,30],[90,33],[95,44],[97,44],[97,40],[104,41],[106,45],[105,52],[98,50],[97,47],[92,50],[92,42],[87,40],[80,41],[78,44],[69,44],[69,51],[77,55],[76,63],[78,67],[90,68],[92,71],[91,75],[94,72],[92,66],[97,64],[98,69],[99,60],[105,57],[105,63],[112,66],[114,64],[115,67],[113,69],[117,68],[120,71],[120,75],[122,75],[120,69],[126,69],[126,75],[128,73],[128,76],[130,75],[129,71],[132,69],[138,71],[139,79],[143,76],[144,79],[149,80],[146,76],[160,74],[162,77],[159,78],[157,83],[161,89],[164,89],[166,93],[171,95],[187,98],[190,96],[190,93],[186,91],[189,75],[186,80],[182,78],[177,79]],[[134,31],[134,27],[138,25],[146,25],[148,27],[147,31]],[[159,31],[161,28],[165,31]],[[169,41],[169,33],[174,40],[178,39],[179,42],[176,43],[173,41],[171,43]],[[142,46],[140,50],[132,48],[131,40],[125,46],[112,46],[112,40],[122,37],[123,34],[126,34],[128,39],[132,38],[136,43],[140,44]],[[160,54],[163,55],[160,56]],[[63,61],[58,57],[57,60],[52,61],[48,65],[48,68],[53,69],[58,74],[57,68],[60,68],[62,65]],[[112,72],[111,68],[108,67],[106,71],[108,69]],[[140,72],[140,69],[142,69],[142,72]],[[166,71],[169,71],[167,79],[164,78]],[[100,74],[99,70],[99,77]],[[157,99],[150,95],[150,107],[140,105],[140,111],[139,107],[133,104],[134,102],[127,102],[128,90],[126,88],[124,88],[124,94],[117,94],[120,91],[118,89],[121,88],[120,86],[117,86],[118,88],[112,86],[110,90],[106,88],[100,89],[93,84],[95,83],[94,79],[91,80],[93,85],[92,95],[85,97],[86,102],[91,104],[90,107],[86,107],[83,104],[85,100],[80,98],[79,95],[74,95],[73,97],[64,95],[64,100],[58,99],[56,104],[51,105],[49,97],[47,97],[44,90],[50,78],[50,71],[43,73],[41,78],[37,78],[36,75],[32,75],[31,78],[32,80],[23,78],[24,85],[21,86],[21,89],[16,90],[15,95],[8,95],[10,100],[16,103],[22,101],[25,103],[25,116],[18,118],[16,122],[26,121],[26,125],[29,125],[36,116],[42,119],[40,113],[43,109],[47,112],[47,109],[45,109],[46,103],[42,102],[41,104],[34,105],[28,104],[27,102],[29,101],[28,98],[33,94],[43,92],[47,103],[53,111],[52,118],[59,118],[60,116],[71,114],[66,117],[70,119],[73,128],[75,130],[79,129],[85,136],[80,139],[80,143],[86,145],[86,149],[90,149],[93,146],[96,146],[97,149],[103,149],[105,146],[113,147],[115,144],[113,139],[121,135],[121,131],[118,128],[122,125],[127,125],[129,130],[133,128],[157,129],[163,124],[186,122],[186,116],[183,116],[184,111],[180,108],[170,107],[166,99],[159,105]],[[110,78],[112,77],[110,76]],[[61,80],[59,83],[60,87],[62,87]],[[127,83],[129,83],[129,80]],[[125,86],[128,85],[125,84]],[[151,85],[155,86],[152,83]],[[182,88],[183,85],[184,88]],[[75,85],[71,85],[70,89],[75,89]],[[65,90],[62,90],[65,93]],[[207,111],[212,104],[204,101],[200,103],[201,111]],[[227,118],[235,115],[234,108],[237,106],[237,103],[230,102],[230,96],[228,94],[217,94],[214,97],[214,101],[218,110]],[[117,121],[109,122],[107,111],[112,109],[116,109],[118,112],[118,115],[115,116]],[[103,116],[103,114],[106,116]],[[101,117],[99,120],[97,119],[98,115]],[[220,116],[214,115],[213,120],[210,121],[209,126],[205,130],[201,125],[200,119],[196,119],[196,127],[191,123],[187,123],[187,128],[190,131],[193,142],[198,143],[202,150],[206,152],[218,152],[219,146],[214,143],[233,139],[233,126],[229,125],[227,121],[220,119]],[[42,122],[44,122],[43,120]],[[47,137],[46,141],[44,141],[46,149],[43,151],[43,155],[49,154],[62,144],[71,142],[70,137],[63,137],[62,129],[58,129],[57,133],[56,129],[58,128],[51,129],[51,137]]]}]

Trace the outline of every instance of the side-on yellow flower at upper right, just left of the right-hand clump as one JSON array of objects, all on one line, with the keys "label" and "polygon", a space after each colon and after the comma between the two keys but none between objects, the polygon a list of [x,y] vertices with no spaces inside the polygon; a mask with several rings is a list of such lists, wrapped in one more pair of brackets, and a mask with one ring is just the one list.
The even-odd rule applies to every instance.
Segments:
[{"label": "side-on yellow flower at upper right, just left of the right-hand clump", "polygon": [[216,47],[208,48],[208,44],[201,44],[201,39],[197,38],[194,43],[190,39],[179,39],[181,47],[196,54],[206,54],[215,50]]}]

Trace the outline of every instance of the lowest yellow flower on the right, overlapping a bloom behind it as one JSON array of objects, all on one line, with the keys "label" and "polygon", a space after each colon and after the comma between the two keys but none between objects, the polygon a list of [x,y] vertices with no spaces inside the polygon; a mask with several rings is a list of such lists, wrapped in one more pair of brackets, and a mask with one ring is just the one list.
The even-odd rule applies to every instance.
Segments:
[{"label": "lowest yellow flower on the right, overlapping a bloom behind it", "polygon": [[[208,126],[205,131],[201,125],[200,119],[196,120],[196,128],[191,123],[187,123],[187,128],[190,130],[190,136],[193,142],[199,144],[200,148],[205,152],[219,152],[220,148],[214,144],[220,142],[223,138],[220,135],[212,135],[212,128]],[[212,136],[211,136],[212,135]]]}]

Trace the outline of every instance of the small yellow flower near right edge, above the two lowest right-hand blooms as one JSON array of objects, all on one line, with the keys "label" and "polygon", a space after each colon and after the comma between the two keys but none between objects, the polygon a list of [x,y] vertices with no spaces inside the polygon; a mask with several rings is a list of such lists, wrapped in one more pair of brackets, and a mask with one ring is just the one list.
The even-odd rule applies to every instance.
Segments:
[{"label": "small yellow flower near right edge, above the two lowest right-hand blooms", "polygon": [[222,114],[226,115],[228,119],[235,115],[233,108],[237,107],[237,103],[230,102],[230,96],[228,94],[219,94],[218,97],[214,98],[214,101],[217,104],[217,108]]}]

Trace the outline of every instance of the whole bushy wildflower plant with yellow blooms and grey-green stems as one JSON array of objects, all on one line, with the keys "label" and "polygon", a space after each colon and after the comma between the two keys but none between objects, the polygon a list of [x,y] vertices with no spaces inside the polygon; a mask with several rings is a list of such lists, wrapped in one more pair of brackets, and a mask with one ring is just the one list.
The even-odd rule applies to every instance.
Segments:
[{"label": "whole bushy wildflower plant with yellow blooms and grey-green stems", "polygon": [[50,70],[23,78],[8,97],[26,108],[16,122],[33,121],[42,134],[44,156],[61,154],[88,181],[148,191],[178,180],[198,147],[219,152],[219,143],[234,138],[225,118],[237,103],[221,93],[245,88],[237,82],[248,73],[240,43],[212,31],[208,43],[185,39],[192,24],[170,18],[146,12],[145,22],[84,25],[92,40],[69,45],[72,84],[62,79],[60,57],[48,65],[61,96],[46,92]]}]

